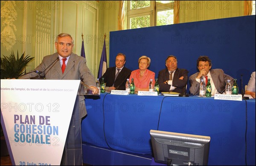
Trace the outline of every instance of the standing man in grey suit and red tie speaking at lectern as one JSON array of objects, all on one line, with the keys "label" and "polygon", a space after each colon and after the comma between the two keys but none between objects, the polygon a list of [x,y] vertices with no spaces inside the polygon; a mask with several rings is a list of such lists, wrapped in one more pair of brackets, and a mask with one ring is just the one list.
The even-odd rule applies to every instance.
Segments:
[{"label": "standing man in grey suit and red tie speaking at lectern", "polygon": [[[74,54],[72,52],[73,46],[74,41],[70,34],[59,34],[55,40],[57,52],[45,56],[35,71],[38,71],[39,75],[44,76],[46,80],[81,80],[90,87],[93,94],[98,94],[99,90],[96,87],[95,78],[86,65],[86,59]],[[19,79],[37,76],[38,73],[33,72],[19,77]],[[82,165],[81,118],[86,114],[84,95],[78,95],[67,133],[61,165],[74,165],[74,162],[75,165]]]}]

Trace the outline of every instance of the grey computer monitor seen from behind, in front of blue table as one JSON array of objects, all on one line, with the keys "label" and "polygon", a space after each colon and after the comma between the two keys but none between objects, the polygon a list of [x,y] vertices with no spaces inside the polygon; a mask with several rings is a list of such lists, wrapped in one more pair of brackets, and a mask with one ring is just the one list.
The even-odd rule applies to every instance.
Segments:
[{"label": "grey computer monitor seen from behind, in front of blue table", "polygon": [[154,160],[167,165],[207,165],[211,138],[150,130]]}]

